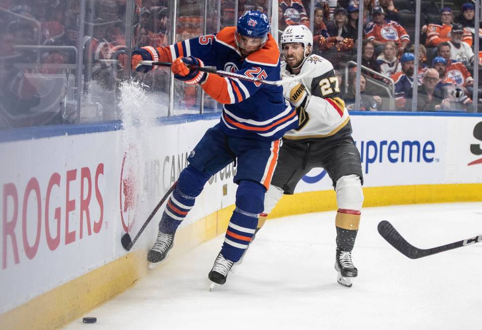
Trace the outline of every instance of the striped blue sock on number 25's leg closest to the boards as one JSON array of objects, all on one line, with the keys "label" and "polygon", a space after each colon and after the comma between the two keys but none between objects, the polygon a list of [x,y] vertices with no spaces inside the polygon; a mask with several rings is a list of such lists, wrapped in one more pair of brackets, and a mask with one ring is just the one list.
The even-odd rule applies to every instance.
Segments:
[{"label": "striped blue sock on number 25's leg closest to the boards", "polygon": [[196,197],[201,193],[208,179],[207,173],[202,173],[191,165],[181,172],[178,186],[167,200],[166,208],[159,222],[159,231],[166,234],[176,232],[194,206]]}]

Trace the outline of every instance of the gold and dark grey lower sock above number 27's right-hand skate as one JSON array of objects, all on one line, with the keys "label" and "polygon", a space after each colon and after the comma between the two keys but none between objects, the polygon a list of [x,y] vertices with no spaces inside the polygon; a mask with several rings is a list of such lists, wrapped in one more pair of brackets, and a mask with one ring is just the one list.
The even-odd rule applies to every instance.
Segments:
[{"label": "gold and dark grey lower sock above number 27's right-hand skate", "polygon": [[360,211],[338,209],[336,213],[336,247],[341,251],[352,251],[360,225]]}]

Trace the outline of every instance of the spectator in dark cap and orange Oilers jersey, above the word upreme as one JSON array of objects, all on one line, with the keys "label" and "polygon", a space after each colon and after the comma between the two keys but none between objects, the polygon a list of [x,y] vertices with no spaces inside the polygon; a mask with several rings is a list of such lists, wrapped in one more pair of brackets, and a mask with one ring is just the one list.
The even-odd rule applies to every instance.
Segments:
[{"label": "spectator in dark cap and orange Oilers jersey, above the word upreme", "polygon": [[385,12],[380,6],[372,10],[373,22],[368,23],[365,28],[365,37],[373,40],[376,46],[383,46],[388,42],[394,42],[397,53],[403,53],[405,47],[410,43],[407,31],[395,21],[387,21]]}]

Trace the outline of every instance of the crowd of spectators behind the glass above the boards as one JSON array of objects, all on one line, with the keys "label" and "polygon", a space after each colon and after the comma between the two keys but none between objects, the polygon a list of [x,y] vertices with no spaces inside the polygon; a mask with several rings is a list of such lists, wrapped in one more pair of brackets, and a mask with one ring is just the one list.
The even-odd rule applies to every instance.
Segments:
[{"label": "crowd of spectators behind the glass above the boards", "polygon": [[[482,46],[482,24],[475,26],[474,2],[420,2],[415,13],[411,0],[363,0],[360,13],[359,0],[279,0],[278,36],[289,25],[313,31],[314,52],[333,63],[348,109],[413,111],[415,85],[417,111],[482,112],[482,79],[474,80],[476,61],[482,73],[481,48],[475,49],[476,38]],[[167,68],[132,72],[129,54],[216,33],[246,10],[272,17],[272,6],[268,0],[0,0],[0,129],[120,119],[122,81],[130,79],[158,105],[158,116],[220,111]]]}]

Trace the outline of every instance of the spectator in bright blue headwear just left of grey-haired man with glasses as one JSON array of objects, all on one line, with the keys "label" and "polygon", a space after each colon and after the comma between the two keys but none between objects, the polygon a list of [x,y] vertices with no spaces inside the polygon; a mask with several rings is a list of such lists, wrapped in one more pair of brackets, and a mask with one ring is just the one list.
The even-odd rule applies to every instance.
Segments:
[{"label": "spectator in bright blue headwear just left of grey-haired man with glasses", "polygon": [[403,54],[400,58],[402,71],[391,75],[391,79],[395,83],[395,104],[399,110],[405,108],[406,99],[412,95],[414,61],[413,53]]}]

